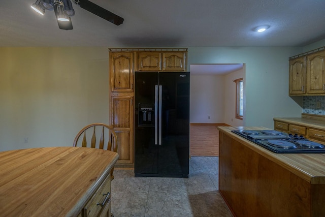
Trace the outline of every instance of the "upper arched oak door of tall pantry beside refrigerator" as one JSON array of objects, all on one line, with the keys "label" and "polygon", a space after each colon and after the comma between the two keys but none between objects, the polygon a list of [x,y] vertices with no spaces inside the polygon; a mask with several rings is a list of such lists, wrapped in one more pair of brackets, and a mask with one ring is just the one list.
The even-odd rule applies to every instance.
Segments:
[{"label": "upper arched oak door of tall pantry beside refrigerator", "polygon": [[134,53],[110,52],[112,92],[133,92]]}]

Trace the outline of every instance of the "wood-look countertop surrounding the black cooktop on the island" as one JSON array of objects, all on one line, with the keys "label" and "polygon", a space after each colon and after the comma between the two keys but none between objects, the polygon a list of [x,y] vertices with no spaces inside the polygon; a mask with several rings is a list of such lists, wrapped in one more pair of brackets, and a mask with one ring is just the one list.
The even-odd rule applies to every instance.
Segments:
[{"label": "wood-look countertop surrounding the black cooktop on the island", "polygon": [[270,130],[264,127],[218,127],[218,130],[311,184],[325,184],[325,154],[273,153],[231,132],[232,130]]}]

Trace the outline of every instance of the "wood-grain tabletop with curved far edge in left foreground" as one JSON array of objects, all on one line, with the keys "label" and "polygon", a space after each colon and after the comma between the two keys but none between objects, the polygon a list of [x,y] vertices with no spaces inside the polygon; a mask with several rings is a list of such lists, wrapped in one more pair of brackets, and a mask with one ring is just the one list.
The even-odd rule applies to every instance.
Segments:
[{"label": "wood-grain tabletop with curved far edge in left foreground", "polygon": [[95,195],[103,183],[110,191],[110,170],[117,159],[115,152],[85,147],[0,152],[0,215],[87,214],[92,198],[105,198]]}]

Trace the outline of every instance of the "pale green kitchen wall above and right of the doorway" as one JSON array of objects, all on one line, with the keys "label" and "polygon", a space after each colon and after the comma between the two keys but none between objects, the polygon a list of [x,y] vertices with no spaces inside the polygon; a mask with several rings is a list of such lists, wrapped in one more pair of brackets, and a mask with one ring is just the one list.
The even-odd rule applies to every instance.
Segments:
[{"label": "pale green kitchen wall above and right of the doorway", "polygon": [[188,65],[246,65],[245,126],[273,129],[273,117],[300,117],[302,107],[288,96],[288,57],[302,47],[189,47]]}]

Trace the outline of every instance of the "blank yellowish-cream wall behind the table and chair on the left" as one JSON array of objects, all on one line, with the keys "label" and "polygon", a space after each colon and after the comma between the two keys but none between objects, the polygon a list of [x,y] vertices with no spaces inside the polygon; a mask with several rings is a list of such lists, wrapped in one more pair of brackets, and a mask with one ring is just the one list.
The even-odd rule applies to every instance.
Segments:
[{"label": "blank yellowish-cream wall behind the table and chair on the left", "polygon": [[0,48],[0,73],[0,151],[70,146],[108,123],[107,48]]}]

